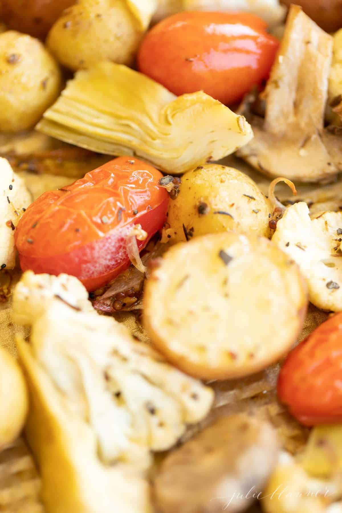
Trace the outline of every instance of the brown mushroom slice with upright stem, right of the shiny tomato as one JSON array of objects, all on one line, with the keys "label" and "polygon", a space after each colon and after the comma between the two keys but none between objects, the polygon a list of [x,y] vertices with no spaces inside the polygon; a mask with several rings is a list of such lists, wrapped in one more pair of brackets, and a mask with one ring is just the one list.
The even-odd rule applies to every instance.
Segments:
[{"label": "brown mushroom slice with upright stem, right of the shiny tomato", "polygon": [[262,93],[265,119],[247,115],[247,107],[255,137],[239,156],[268,176],[300,182],[334,179],[342,170],[342,140],[324,128],[331,57],[332,37],[292,6]]}]

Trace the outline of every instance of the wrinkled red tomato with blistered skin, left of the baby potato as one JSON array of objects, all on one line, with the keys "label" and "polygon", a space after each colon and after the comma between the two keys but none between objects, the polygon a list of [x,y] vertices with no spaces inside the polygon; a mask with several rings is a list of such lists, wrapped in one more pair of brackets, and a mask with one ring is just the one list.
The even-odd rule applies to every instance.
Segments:
[{"label": "wrinkled red tomato with blistered skin, left of the baby potato", "polygon": [[76,276],[88,290],[102,287],[130,265],[126,238],[135,224],[148,237],[162,228],[169,195],[162,173],[129,156],[90,171],[32,203],[15,230],[23,271]]}]

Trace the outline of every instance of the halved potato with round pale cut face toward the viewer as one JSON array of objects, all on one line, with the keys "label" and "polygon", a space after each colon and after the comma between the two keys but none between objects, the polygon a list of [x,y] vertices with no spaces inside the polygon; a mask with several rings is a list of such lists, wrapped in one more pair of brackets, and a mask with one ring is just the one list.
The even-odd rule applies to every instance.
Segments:
[{"label": "halved potato with round pale cut face toward the viewer", "polygon": [[303,325],[304,280],[266,238],[234,232],[173,246],[147,280],[155,346],[202,379],[247,376],[277,361]]}]

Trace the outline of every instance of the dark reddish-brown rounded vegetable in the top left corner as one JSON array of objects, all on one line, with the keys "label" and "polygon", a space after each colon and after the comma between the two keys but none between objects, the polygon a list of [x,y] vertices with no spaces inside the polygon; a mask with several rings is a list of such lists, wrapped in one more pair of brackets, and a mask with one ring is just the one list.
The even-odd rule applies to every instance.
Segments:
[{"label": "dark reddish-brown rounded vegetable in the top left corner", "polygon": [[9,29],[44,39],[62,11],[75,0],[0,0],[0,15]]}]

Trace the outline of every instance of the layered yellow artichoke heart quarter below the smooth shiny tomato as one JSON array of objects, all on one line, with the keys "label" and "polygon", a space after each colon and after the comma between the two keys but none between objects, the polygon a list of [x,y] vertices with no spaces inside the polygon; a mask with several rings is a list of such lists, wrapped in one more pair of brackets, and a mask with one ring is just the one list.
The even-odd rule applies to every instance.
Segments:
[{"label": "layered yellow artichoke heart quarter below the smooth shiny tomato", "polygon": [[167,173],[222,159],[253,137],[244,116],[203,91],[175,96],[126,66],[81,70],[37,130],[110,155],[136,155]]}]

